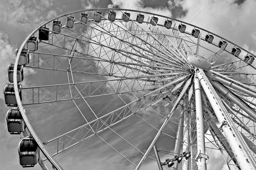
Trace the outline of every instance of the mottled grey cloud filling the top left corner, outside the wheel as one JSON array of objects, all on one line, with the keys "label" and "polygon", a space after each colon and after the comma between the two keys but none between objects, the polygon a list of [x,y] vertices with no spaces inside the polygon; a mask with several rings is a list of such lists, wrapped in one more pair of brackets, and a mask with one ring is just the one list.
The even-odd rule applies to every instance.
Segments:
[{"label": "mottled grey cloud filling the top left corner, outside the wheel", "polygon": [[[21,29],[25,33],[29,33],[43,21],[57,15],[58,7],[51,8],[52,0],[42,1],[19,1],[19,0],[4,0],[0,6],[0,15],[2,22],[11,29]],[[60,10],[61,11],[61,10]],[[11,18],[11,19],[10,19]]]}]

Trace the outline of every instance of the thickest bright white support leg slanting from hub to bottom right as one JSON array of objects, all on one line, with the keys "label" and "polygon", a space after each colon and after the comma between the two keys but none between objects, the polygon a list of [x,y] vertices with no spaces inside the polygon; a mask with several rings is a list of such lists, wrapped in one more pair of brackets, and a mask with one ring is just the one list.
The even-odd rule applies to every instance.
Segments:
[{"label": "thickest bright white support leg slanting from hub to bottom right", "polygon": [[[214,110],[214,113],[215,113],[216,116],[217,116],[218,121],[220,122],[220,124],[222,124],[222,125],[220,126],[220,128],[223,128],[223,125],[226,126],[226,127],[224,128],[224,129],[225,129],[225,132],[224,132],[225,137],[226,137],[227,139],[229,139],[229,140],[228,140],[228,143],[229,143],[229,145],[230,145],[232,151],[234,152],[234,150],[236,150],[236,151],[234,152],[234,154],[236,155],[236,160],[237,160],[237,162],[238,162],[238,164],[239,164],[241,170],[249,170],[249,169],[252,169],[251,164],[250,164],[249,162],[247,162],[247,160],[246,160],[246,155],[245,155],[245,153],[243,152],[243,150],[242,150],[242,149],[237,149],[237,146],[238,146],[237,143],[238,143],[238,142],[237,142],[236,137],[235,137],[234,139],[236,140],[237,143],[233,143],[233,138],[232,138],[232,140],[231,140],[231,138],[229,138],[229,137],[230,137],[230,134],[233,134],[233,133],[232,133],[232,130],[231,130],[231,129],[227,128],[227,125],[226,125],[226,124],[228,124],[228,122],[226,121],[226,118],[224,117],[224,113],[223,113],[222,109],[220,108],[220,106],[219,106],[219,104],[218,104],[218,102],[217,102],[217,100],[220,100],[220,99],[219,99],[219,96],[214,96],[213,91],[211,90],[211,89],[213,89],[212,85],[211,85],[211,84],[208,85],[208,84],[206,83],[206,81],[204,80],[204,78],[203,78],[203,76],[202,76],[202,74],[201,74],[200,72],[197,73],[197,76],[198,76],[198,78],[199,78],[199,81],[200,81],[200,83],[201,83],[203,89],[204,89],[204,92],[205,92],[206,95],[207,95],[208,100],[210,101],[210,103],[211,103],[211,105],[212,105],[212,108],[213,108],[213,110]],[[210,88],[210,87],[211,87],[211,88]],[[218,99],[216,99],[215,97],[217,97]],[[223,129],[223,131],[224,131],[224,129]],[[229,136],[229,137],[228,137],[228,136]],[[233,136],[233,135],[232,135],[232,136]],[[238,146],[238,147],[239,147],[239,146]],[[241,147],[241,146],[240,146],[240,147]],[[239,147],[239,148],[240,148],[240,147]]]}]

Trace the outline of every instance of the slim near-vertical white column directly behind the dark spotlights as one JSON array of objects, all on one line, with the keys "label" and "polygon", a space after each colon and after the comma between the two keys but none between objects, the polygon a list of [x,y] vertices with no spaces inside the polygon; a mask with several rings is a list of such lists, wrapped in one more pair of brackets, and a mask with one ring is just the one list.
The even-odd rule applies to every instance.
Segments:
[{"label": "slim near-vertical white column directly behind the dark spotlights", "polygon": [[[189,119],[188,119],[188,98],[185,98],[185,107],[184,107],[184,121],[183,121],[183,146],[182,152],[189,152]],[[177,162],[177,161],[175,161]],[[186,160],[185,158],[182,159],[182,170],[188,170],[189,166],[189,159]]]}]

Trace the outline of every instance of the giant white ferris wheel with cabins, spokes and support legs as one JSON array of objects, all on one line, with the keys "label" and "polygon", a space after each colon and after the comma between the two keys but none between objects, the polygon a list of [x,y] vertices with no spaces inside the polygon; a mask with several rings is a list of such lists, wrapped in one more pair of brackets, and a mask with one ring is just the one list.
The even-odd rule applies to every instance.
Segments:
[{"label": "giant white ferris wheel with cabins, spokes and support legs", "polygon": [[223,37],[87,9],[44,22],[16,54],[4,95],[23,167],[68,169],[75,152],[95,168],[206,169],[219,150],[229,169],[256,169],[255,55]]}]

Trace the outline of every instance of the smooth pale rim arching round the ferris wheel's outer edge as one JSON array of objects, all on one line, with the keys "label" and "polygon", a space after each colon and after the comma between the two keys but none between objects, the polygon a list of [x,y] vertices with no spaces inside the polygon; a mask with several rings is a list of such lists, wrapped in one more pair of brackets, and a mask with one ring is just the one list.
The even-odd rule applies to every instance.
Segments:
[{"label": "smooth pale rim arching round the ferris wheel's outer edge", "polygon": [[[143,13],[148,13],[148,14],[154,14],[154,13],[149,13],[149,12],[145,12],[145,11],[129,10],[129,9],[97,8],[97,9],[87,9],[87,10],[78,10],[78,11],[68,12],[68,13],[59,15],[59,16],[57,16],[57,17],[54,17],[54,18],[52,18],[52,19],[50,19],[50,20],[44,22],[44,23],[41,24],[40,26],[36,27],[36,29],[34,29],[34,30],[25,38],[25,40],[22,42],[22,44],[21,44],[21,46],[20,46],[20,49],[19,49],[19,51],[18,51],[18,53],[17,53],[16,59],[15,59],[15,63],[14,63],[14,72],[17,72],[18,59],[19,59],[19,57],[20,57],[20,54],[21,54],[21,51],[22,51],[22,47],[25,46],[25,44],[26,44],[26,42],[28,41],[28,39],[29,39],[34,33],[36,33],[36,31],[38,31],[42,26],[44,26],[44,25],[46,25],[46,24],[52,22],[52,21],[55,20],[55,19],[64,17],[64,16],[69,15],[69,14],[78,13],[78,12],[82,12],[82,11],[93,11],[93,10],[121,10],[121,11],[133,11],[133,12],[143,12]],[[183,22],[183,21],[180,21],[180,20],[171,18],[171,17],[166,17],[166,16],[162,16],[162,15],[158,15],[158,14],[154,14],[154,15],[160,16],[160,17],[169,18],[169,19],[172,19],[172,20],[176,20],[176,21],[179,21],[179,22],[188,24],[188,25],[190,25],[190,26],[194,26],[194,25],[192,25],[192,24],[189,24],[189,23],[186,23],[186,22]],[[195,27],[196,27],[196,28],[199,28],[199,29],[202,29],[202,28],[197,27],[197,26],[195,26]],[[204,29],[202,29],[202,30],[204,30]],[[206,31],[206,32],[208,32],[208,33],[211,33],[211,32],[209,32],[209,31],[207,31],[207,30],[204,30],[204,31]],[[214,34],[214,33],[212,33],[212,34],[213,34],[213,35],[216,35],[216,34]],[[221,38],[221,39],[223,39],[223,40],[226,40],[226,39],[224,39],[224,38],[222,38],[222,37],[220,37],[220,36],[218,36],[218,35],[216,35],[216,36],[219,37],[219,38]],[[228,41],[228,40],[226,40],[226,41]],[[232,43],[231,41],[228,41],[228,42],[231,43],[231,44],[234,44],[234,43]],[[255,55],[253,55],[253,54],[250,53],[249,51],[245,50],[244,48],[242,48],[242,47],[240,47],[240,46],[238,46],[238,45],[236,45],[236,44],[234,44],[234,45],[235,45],[236,47],[239,47],[239,48],[243,49],[244,51],[248,52],[249,54],[251,54],[252,56],[255,57]],[[33,128],[32,128],[32,126],[30,125],[30,123],[29,123],[29,121],[28,121],[28,118],[26,117],[25,110],[24,110],[24,108],[22,107],[23,105],[22,105],[22,103],[21,103],[21,101],[20,101],[20,96],[19,96],[19,93],[18,93],[17,75],[16,75],[16,74],[14,74],[13,79],[14,79],[14,80],[13,80],[13,83],[14,83],[14,89],[15,89],[15,96],[16,96],[16,100],[17,100],[17,103],[18,103],[18,107],[19,107],[19,109],[20,109],[20,111],[21,111],[22,116],[24,116],[25,122],[28,123],[28,126],[27,126],[28,129],[31,129],[31,130],[32,130]],[[26,124],[27,124],[27,123],[26,123]],[[33,130],[32,130],[32,131],[33,131]],[[43,143],[40,141],[39,137],[37,137],[37,135],[34,134],[34,133],[32,133],[31,135],[32,135],[32,137],[33,137],[34,139],[36,139],[36,142],[41,143],[41,144],[39,145],[39,147],[40,147],[40,146],[42,147],[42,146],[43,146]],[[46,149],[46,148],[40,148],[40,149],[41,149],[43,152],[45,152],[45,149]],[[46,150],[47,150],[47,149],[46,149]],[[60,165],[57,163],[57,161],[56,161],[56,165],[55,165],[53,159],[54,159],[53,157],[52,157],[52,158],[49,158],[49,160],[52,160],[52,161],[53,161],[54,166],[55,166],[55,167],[60,166]],[[50,161],[50,162],[51,162],[51,161]],[[51,163],[52,163],[52,162],[51,162]],[[60,169],[62,169],[61,166],[60,166]]]}]

